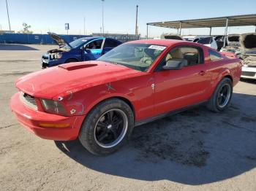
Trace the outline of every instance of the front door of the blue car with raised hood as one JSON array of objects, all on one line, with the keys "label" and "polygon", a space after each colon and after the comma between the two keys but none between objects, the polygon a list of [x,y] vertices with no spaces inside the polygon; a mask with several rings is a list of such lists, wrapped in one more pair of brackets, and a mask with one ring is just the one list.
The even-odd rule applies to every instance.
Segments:
[{"label": "front door of the blue car with raised hood", "polygon": [[94,61],[102,55],[105,38],[94,39],[83,47],[83,61]]}]

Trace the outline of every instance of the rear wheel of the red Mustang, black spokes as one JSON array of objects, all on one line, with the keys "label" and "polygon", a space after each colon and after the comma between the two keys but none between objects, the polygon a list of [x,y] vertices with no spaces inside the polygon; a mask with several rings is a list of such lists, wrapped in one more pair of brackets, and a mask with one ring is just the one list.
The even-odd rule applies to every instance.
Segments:
[{"label": "rear wheel of the red Mustang, black spokes", "polygon": [[208,100],[207,107],[213,112],[222,112],[230,105],[233,95],[233,85],[231,79],[225,77],[217,85],[211,98]]}]

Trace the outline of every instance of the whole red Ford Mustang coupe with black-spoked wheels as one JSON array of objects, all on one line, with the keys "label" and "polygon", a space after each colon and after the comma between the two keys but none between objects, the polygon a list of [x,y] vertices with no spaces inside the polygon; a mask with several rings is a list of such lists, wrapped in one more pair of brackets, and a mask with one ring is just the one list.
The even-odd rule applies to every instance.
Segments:
[{"label": "whole red Ford Mustang coupe with black-spoked wheels", "polygon": [[241,75],[238,58],[202,44],[140,40],[97,61],[67,63],[15,82],[10,106],[43,139],[79,138],[96,155],[116,151],[136,125],[206,103],[227,108]]}]

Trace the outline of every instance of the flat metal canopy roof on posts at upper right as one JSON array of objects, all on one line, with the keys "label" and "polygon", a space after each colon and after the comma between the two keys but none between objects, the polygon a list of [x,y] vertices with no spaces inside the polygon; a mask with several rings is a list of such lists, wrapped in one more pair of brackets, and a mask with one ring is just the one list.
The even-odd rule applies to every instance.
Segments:
[{"label": "flat metal canopy roof on posts at upper right", "polygon": [[256,14],[237,15],[228,17],[214,17],[194,20],[175,20],[157,23],[147,23],[149,26],[159,26],[165,28],[212,28],[228,26],[256,26]]}]

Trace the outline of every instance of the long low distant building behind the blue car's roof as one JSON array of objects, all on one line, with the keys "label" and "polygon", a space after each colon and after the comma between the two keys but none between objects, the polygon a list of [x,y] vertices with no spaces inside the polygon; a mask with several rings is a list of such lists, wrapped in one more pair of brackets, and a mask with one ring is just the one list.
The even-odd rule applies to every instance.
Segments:
[{"label": "long low distant building behind the blue car's roof", "polygon": [[[92,36],[102,36],[101,33],[93,33]],[[133,40],[139,40],[140,34],[104,34],[104,37],[116,39],[121,42],[128,42]]]}]

